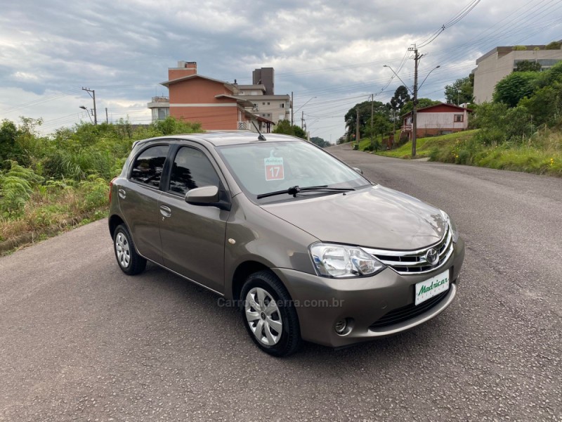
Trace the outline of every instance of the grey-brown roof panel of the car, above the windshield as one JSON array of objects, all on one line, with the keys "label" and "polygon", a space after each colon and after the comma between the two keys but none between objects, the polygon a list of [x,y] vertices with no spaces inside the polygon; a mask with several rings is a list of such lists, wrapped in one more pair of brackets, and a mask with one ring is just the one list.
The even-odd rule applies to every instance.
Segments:
[{"label": "grey-brown roof panel of the car, above the windshield", "polygon": [[169,136],[158,136],[157,138],[143,139],[142,141],[137,141],[134,146],[140,143],[145,143],[149,141],[162,141],[163,139],[170,140],[181,140],[186,141],[202,141],[202,143],[210,143],[212,146],[225,146],[225,145],[237,145],[240,143],[261,143],[261,142],[292,142],[292,141],[304,141],[304,139],[296,138],[296,136],[289,136],[283,134],[263,134],[266,141],[260,141],[258,139],[259,134],[254,132],[206,132],[201,134],[178,134]]}]

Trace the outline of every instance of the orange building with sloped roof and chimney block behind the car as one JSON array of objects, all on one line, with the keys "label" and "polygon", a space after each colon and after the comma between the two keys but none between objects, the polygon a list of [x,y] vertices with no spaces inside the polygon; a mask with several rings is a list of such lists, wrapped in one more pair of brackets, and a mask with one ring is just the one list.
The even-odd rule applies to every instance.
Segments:
[{"label": "orange building with sloped roof and chimney block behind the car", "polygon": [[[195,62],[179,61],[177,68],[168,69],[168,80],[161,84],[169,90],[169,115],[176,119],[200,122],[206,131],[249,129],[255,132],[252,122],[261,132],[269,133],[272,129],[271,120],[246,109],[252,108],[254,103],[237,98],[239,90],[235,84],[197,74]],[[149,108],[157,106],[162,103],[148,104]]]}]

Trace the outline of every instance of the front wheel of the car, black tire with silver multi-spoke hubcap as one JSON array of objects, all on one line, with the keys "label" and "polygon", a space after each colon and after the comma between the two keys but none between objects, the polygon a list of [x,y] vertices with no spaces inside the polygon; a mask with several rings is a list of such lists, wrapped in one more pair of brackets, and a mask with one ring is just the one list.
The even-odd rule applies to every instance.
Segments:
[{"label": "front wheel of the car, black tire with silver multi-spoke hubcap", "polygon": [[242,286],[242,320],[254,343],[282,357],[301,346],[299,317],[289,292],[271,271],[251,274]]}]

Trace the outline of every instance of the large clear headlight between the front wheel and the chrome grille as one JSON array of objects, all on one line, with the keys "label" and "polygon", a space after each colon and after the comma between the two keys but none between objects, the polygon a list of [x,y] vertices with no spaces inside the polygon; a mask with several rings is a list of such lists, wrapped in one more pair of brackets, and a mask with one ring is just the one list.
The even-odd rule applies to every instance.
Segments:
[{"label": "large clear headlight between the front wheel and the chrome grille", "polygon": [[356,246],[313,243],[310,249],[320,276],[336,279],[372,276],[385,268],[377,258]]}]

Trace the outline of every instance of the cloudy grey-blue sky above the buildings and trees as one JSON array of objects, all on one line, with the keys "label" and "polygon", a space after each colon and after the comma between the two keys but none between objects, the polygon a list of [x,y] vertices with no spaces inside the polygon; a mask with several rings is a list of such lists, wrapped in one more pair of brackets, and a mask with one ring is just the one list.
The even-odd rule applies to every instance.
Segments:
[{"label": "cloudy grey-blue sky above the buildings and trees", "polygon": [[294,91],[297,122],[303,112],[312,136],[335,142],[355,103],[386,102],[401,84],[383,65],[412,86],[414,43],[425,54],[420,82],[440,65],[419,96],[440,100],[495,46],[562,39],[562,0],[2,3],[0,120],[41,117],[44,133],[89,120],[81,87],[96,90],[99,120],[107,108],[110,121],[150,122],[146,104],[167,95],[159,82],[186,60],[241,84],[254,68],[275,68],[275,93]]}]

